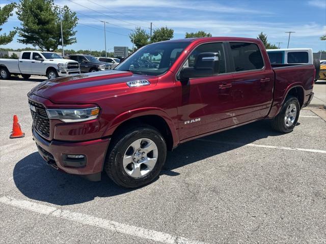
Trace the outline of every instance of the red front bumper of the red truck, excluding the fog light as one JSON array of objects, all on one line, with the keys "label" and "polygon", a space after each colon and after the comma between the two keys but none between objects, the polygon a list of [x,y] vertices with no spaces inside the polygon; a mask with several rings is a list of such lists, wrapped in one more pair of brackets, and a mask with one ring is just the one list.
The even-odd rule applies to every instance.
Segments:
[{"label": "red front bumper of the red truck, excluding the fog light", "polygon": [[[83,142],[47,141],[33,128],[33,139],[43,159],[54,168],[66,173],[84,175],[91,180],[100,180],[110,138],[102,138]],[[85,155],[86,165],[71,167],[65,165],[65,155]]]}]

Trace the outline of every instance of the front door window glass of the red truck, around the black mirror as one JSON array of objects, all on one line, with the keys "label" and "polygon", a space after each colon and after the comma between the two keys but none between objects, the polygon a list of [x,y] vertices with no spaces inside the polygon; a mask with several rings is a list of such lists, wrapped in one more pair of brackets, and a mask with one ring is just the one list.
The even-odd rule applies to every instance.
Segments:
[{"label": "front door window glass of the red truck, around the black mirror", "polygon": [[196,49],[188,57],[188,60],[185,63],[184,67],[194,67],[198,55],[202,52],[218,52],[220,54],[220,57],[219,57],[220,72],[219,72],[219,74],[226,73],[226,60],[225,60],[225,52],[224,52],[223,43],[207,43],[207,44],[202,44],[202,45],[196,47]]}]

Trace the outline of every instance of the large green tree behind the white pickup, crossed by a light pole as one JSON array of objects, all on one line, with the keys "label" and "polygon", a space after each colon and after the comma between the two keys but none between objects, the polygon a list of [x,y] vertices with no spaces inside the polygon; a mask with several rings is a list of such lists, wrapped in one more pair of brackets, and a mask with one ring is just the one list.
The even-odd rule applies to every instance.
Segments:
[{"label": "large green tree behind the white pickup, crossed by a light pole", "polygon": [[[53,0],[20,0],[16,12],[21,21],[17,27],[18,42],[53,51],[61,45],[60,11]],[[64,45],[76,43],[74,28],[78,18],[67,6],[61,10]]]}]

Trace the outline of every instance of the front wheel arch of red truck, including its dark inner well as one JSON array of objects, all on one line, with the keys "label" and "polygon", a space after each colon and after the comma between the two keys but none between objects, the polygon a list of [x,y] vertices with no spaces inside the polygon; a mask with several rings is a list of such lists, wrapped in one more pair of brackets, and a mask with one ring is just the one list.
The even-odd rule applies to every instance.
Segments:
[{"label": "front wheel arch of red truck, including its dark inner well", "polygon": [[179,136],[173,120],[160,109],[147,108],[128,111],[117,116],[105,131],[103,136],[114,137],[125,127],[135,124],[147,124],[156,128],[167,142],[168,150],[172,150],[179,142]]}]

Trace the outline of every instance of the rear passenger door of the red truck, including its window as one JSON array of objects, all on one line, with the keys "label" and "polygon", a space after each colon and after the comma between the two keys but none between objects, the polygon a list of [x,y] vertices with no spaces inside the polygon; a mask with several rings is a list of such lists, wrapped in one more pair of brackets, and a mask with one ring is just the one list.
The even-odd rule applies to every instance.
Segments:
[{"label": "rear passenger door of the red truck, including its window", "polygon": [[[265,64],[256,43],[230,42],[233,66],[232,113],[234,124],[265,117],[273,102],[274,72]],[[268,67],[267,67],[268,66]]]}]

